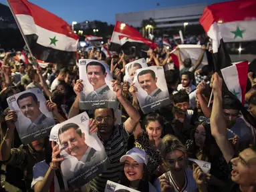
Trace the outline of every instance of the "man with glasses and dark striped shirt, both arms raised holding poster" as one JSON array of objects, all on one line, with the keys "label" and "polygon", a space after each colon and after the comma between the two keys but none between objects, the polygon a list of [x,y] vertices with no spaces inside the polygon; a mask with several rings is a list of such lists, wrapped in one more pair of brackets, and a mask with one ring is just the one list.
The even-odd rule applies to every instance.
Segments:
[{"label": "man with glasses and dark striped shirt, both arms raised holding poster", "polygon": [[[91,191],[104,191],[106,182],[111,180],[118,182],[124,165],[119,159],[126,154],[128,139],[132,135],[138,121],[140,113],[127,101],[122,95],[122,86],[118,81],[112,82],[113,91],[116,92],[116,98],[128,113],[129,118],[122,124],[114,125],[116,118],[114,117],[114,109],[96,109],[94,111],[94,119],[98,127],[98,137],[102,141],[105,151],[110,159],[110,167],[102,174],[98,175],[90,181]],[[72,108],[70,109],[69,119],[80,113],[79,97],[80,92],[84,89],[81,80],[76,82],[74,91],[77,95]]]}]

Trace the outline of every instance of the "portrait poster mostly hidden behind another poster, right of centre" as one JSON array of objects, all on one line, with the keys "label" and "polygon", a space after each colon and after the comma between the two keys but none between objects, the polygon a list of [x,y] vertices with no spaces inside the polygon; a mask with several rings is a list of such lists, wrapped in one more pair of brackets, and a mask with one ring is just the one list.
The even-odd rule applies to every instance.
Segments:
[{"label": "portrait poster mostly hidden behind another poster, right of centre", "polygon": [[146,60],[144,58],[138,59],[136,61],[132,61],[125,66],[125,73],[124,81],[128,81],[128,83],[132,83],[134,80],[134,75],[137,69],[142,69],[144,67],[148,67],[146,64]]}]

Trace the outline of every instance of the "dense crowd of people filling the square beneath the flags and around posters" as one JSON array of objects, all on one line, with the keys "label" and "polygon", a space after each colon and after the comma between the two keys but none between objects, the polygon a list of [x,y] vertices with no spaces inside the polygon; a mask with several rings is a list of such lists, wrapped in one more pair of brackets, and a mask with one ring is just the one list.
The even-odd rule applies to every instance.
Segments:
[{"label": "dense crowd of people filling the square beneath the flags and around posters", "polygon": [[[164,67],[171,104],[144,114],[136,87],[123,80],[125,65],[140,58],[124,54],[104,58],[96,49],[80,51],[80,59],[104,59],[110,68],[122,111],[120,124],[115,123],[113,109],[80,109],[84,84],[77,65],[54,63],[35,68],[31,57],[24,64],[9,53],[4,55],[0,58],[0,191],[104,191],[108,180],[145,192],[255,191],[256,127],[245,120],[236,101],[223,93],[219,74],[210,65],[198,69],[206,52],[209,46],[203,45],[201,56],[192,65],[189,58],[182,61],[177,49],[176,66],[168,49],[150,49],[146,63]],[[135,71],[128,71],[130,77]],[[256,71],[248,73],[248,79],[251,89],[245,99],[256,120]],[[15,129],[17,115],[8,108],[7,98],[33,88],[44,93],[56,124],[84,111],[95,119],[94,131],[104,145],[110,167],[86,185],[77,189],[68,186],[61,175],[59,146],[49,137],[22,145]],[[27,105],[31,107],[27,113],[33,113],[33,104],[35,101]],[[205,173],[189,158],[211,163],[210,172]]]}]

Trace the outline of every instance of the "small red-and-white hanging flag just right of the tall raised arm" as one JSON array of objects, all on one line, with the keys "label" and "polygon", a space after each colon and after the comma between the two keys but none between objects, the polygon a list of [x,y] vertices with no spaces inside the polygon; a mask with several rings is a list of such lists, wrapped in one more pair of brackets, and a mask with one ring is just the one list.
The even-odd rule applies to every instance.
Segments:
[{"label": "small red-and-white hanging flag just right of the tall raised arm", "polygon": [[241,101],[241,103],[243,103],[243,105],[245,105],[248,69],[248,61],[243,61],[221,69],[227,88],[239,99],[239,101]]}]

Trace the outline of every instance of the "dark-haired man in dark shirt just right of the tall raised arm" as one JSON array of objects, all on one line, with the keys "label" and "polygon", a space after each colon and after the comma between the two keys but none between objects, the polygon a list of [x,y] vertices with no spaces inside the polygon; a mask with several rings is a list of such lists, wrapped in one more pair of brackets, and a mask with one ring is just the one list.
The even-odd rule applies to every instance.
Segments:
[{"label": "dark-haired man in dark shirt just right of the tall raised arm", "polygon": [[[227,123],[227,128],[233,131],[238,136],[237,143],[239,144],[239,151],[242,151],[249,146],[251,141],[251,129],[245,123],[243,117],[239,117],[239,107],[235,101],[227,96],[223,99],[223,114]],[[228,139],[235,135],[228,131]]]}]

